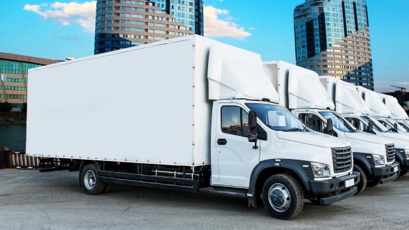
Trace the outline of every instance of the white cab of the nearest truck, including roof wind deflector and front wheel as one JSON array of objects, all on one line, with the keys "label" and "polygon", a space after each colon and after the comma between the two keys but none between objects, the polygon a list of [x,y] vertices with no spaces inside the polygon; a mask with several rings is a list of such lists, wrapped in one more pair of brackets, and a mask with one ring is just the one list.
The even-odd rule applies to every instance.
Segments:
[{"label": "white cab of the nearest truck, including roof wind deflector and front wheel", "polygon": [[238,56],[216,46],[209,54],[211,190],[246,192],[250,206],[261,199],[280,219],[298,215],[304,198],[328,205],[355,194],[350,144],[308,130],[279,105],[260,56]]}]

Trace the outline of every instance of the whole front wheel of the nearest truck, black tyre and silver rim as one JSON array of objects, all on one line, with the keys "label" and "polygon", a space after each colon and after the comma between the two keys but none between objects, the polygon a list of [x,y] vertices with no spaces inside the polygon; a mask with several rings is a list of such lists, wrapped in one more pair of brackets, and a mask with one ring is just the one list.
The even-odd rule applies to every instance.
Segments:
[{"label": "whole front wheel of the nearest truck, black tyre and silver rim", "polygon": [[272,217],[288,220],[304,208],[304,190],[293,176],[270,176],[262,187],[262,203]]}]

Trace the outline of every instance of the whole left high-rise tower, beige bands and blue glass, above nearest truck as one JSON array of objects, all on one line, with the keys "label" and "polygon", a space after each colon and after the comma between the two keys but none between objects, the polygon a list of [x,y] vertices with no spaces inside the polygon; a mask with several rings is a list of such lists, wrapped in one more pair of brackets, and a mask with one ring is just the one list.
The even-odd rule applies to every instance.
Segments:
[{"label": "whole left high-rise tower, beige bands and blue glass, above nearest truck", "polygon": [[203,34],[202,0],[98,0],[94,53]]}]

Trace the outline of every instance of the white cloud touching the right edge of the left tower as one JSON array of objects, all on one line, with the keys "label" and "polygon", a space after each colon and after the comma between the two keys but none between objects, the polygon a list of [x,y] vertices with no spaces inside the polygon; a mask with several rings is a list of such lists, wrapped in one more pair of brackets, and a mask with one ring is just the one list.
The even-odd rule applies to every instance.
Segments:
[{"label": "white cloud touching the right edge of the left tower", "polygon": [[[245,39],[251,36],[251,33],[246,31],[244,27],[240,27],[235,22],[228,21],[232,18],[228,10],[214,8],[213,6],[205,6],[203,9],[205,21],[205,36],[209,37],[228,37]],[[225,20],[219,16],[226,16]]]}]

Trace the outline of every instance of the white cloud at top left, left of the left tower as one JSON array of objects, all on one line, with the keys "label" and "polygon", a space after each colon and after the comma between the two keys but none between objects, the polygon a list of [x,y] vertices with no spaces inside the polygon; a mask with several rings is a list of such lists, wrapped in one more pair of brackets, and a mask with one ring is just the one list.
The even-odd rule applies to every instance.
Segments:
[{"label": "white cloud at top left, left of the left tower", "polygon": [[80,26],[88,33],[95,31],[95,13],[96,1],[86,1],[77,3],[71,1],[69,3],[54,2],[51,6],[46,3],[40,5],[25,5],[24,10],[32,11],[46,20],[54,20],[65,26],[72,23],[80,24]]}]

